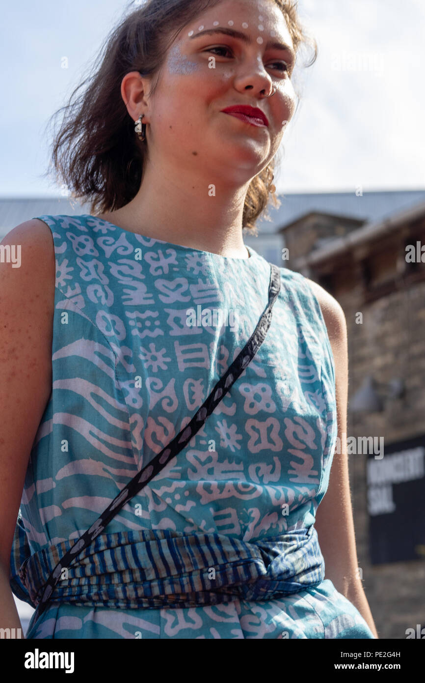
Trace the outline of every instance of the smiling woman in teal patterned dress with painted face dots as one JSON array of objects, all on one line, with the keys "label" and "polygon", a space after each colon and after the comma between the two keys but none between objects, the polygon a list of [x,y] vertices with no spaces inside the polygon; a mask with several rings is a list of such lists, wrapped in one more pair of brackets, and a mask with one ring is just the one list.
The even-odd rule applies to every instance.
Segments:
[{"label": "smiling woman in teal patterned dress with painted face dots", "polygon": [[11,555],[14,593],[46,598],[29,638],[377,637],[347,456],[330,471],[346,431],[345,318],[298,273],[276,269],[267,336],[201,430],[98,525],[267,308],[270,265],[242,226],[274,190],[304,38],[278,0],[151,0],[70,107],[53,158],[91,214],[38,217],[3,240],[22,245],[23,268],[2,279],[2,363],[18,352],[1,389],[1,626],[18,626]]}]

